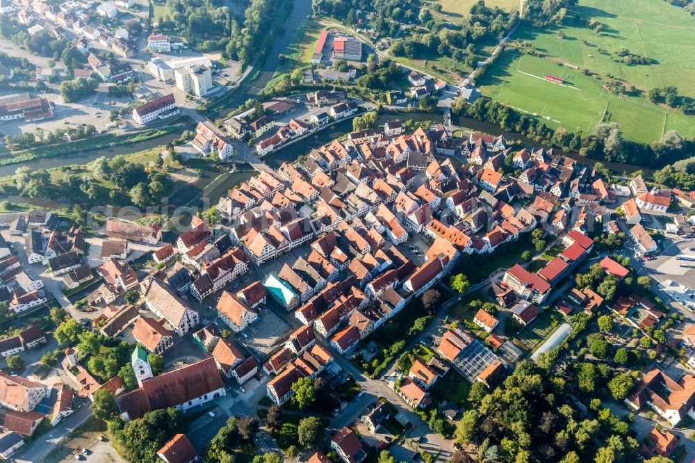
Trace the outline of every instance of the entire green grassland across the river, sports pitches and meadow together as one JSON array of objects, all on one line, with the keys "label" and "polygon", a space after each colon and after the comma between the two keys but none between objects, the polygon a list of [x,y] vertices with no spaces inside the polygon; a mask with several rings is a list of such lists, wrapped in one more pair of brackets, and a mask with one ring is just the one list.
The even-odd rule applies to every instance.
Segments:
[{"label": "entire green grassland across the river, sports pitches and meadow together", "polygon": [[[547,58],[507,51],[478,82],[480,91],[519,111],[543,117],[549,127],[591,131],[603,122],[619,122],[630,140],[658,140],[665,130],[695,136],[695,117],[649,103],[640,97],[609,95],[591,76],[575,69],[588,68],[601,76],[612,74],[626,86],[649,90],[673,85],[679,93],[695,97],[695,22],[681,8],[660,0],[580,0],[575,9],[583,21],[596,18],[603,31],[562,26],[543,30],[521,26],[512,39],[533,42]],[[573,11],[575,13],[575,11]],[[559,38],[562,31],[565,38]],[[600,53],[598,48],[605,50]],[[657,60],[653,65],[616,63],[615,51],[628,48]],[[564,86],[546,81],[546,74],[566,80]]]}]

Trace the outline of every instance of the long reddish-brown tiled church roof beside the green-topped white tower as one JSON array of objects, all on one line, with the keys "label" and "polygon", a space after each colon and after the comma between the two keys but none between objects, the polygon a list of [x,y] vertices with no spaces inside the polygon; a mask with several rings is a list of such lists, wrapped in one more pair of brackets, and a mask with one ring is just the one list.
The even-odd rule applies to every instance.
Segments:
[{"label": "long reddish-brown tiled church roof beside the green-topped white tower", "polygon": [[180,405],[223,387],[215,359],[210,357],[144,380],[142,387],[118,396],[116,403],[130,419],[137,419],[151,410]]}]

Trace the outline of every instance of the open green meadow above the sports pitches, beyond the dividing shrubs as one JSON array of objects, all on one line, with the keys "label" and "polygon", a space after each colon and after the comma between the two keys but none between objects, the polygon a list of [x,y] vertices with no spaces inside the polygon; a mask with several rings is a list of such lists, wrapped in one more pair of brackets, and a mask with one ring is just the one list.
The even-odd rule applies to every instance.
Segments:
[{"label": "open green meadow above the sports pitches, beyond the dividing shrubs", "polygon": [[[603,74],[610,72],[637,88],[676,86],[682,95],[695,97],[695,22],[682,8],[661,0],[580,0],[571,15],[578,22],[553,29],[520,26],[512,38],[530,40],[537,50]],[[584,24],[591,18],[603,24],[596,34]],[[557,38],[562,31],[565,38]],[[598,48],[607,53],[600,53]],[[653,65],[623,65],[615,52],[626,47],[648,56]]]}]

